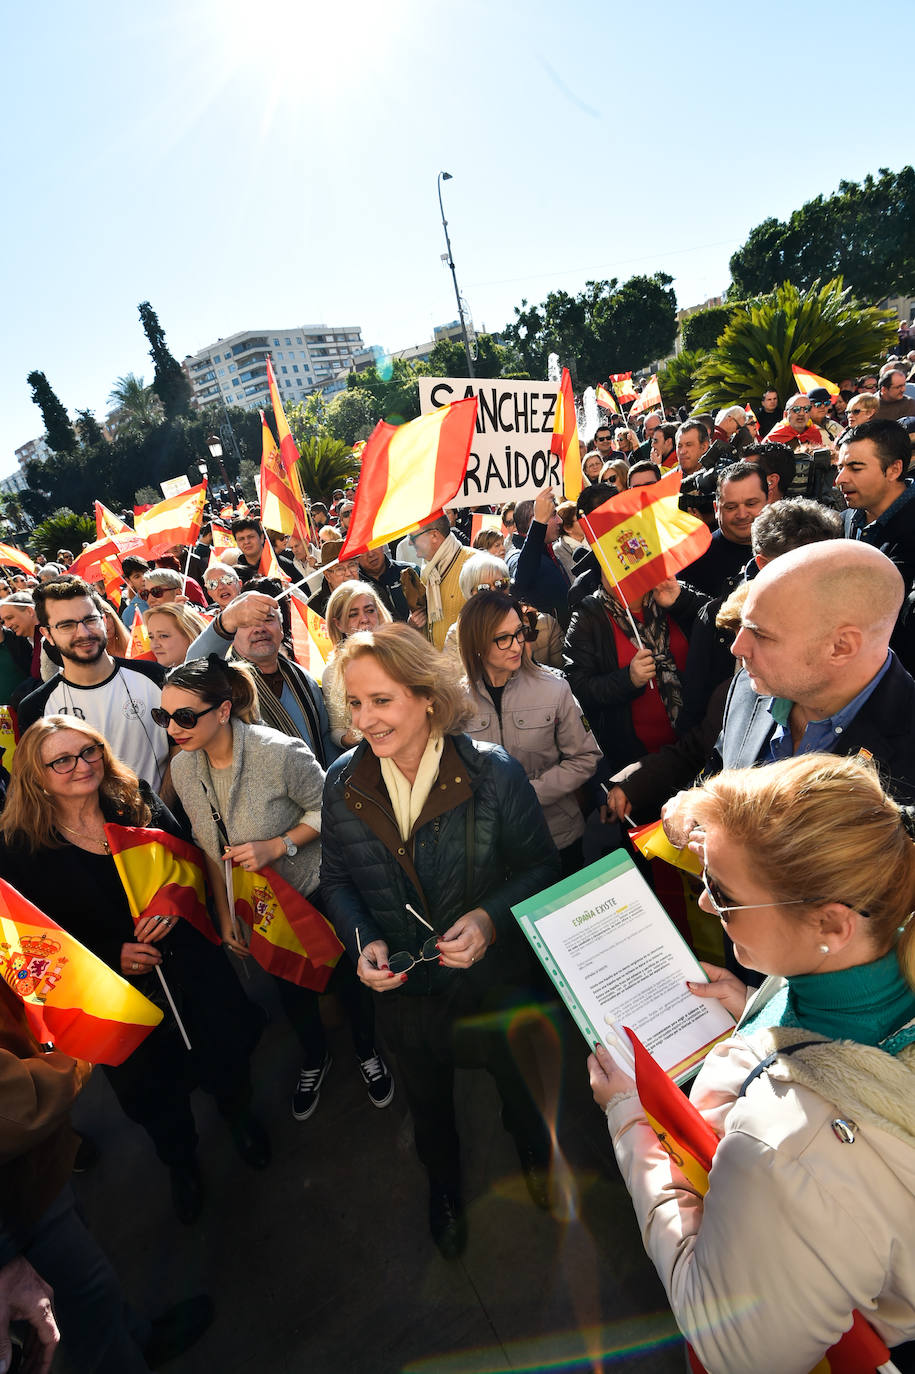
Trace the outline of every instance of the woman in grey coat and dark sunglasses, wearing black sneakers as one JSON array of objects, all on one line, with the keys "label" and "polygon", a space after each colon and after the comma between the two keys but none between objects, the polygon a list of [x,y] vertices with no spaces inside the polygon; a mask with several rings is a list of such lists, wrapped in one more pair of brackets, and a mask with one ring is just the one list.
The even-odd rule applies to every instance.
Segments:
[{"label": "woman in grey coat and dark sunglasses, wearing black sneakers", "polygon": [[[250,671],[217,654],[173,668],[152,719],[179,746],[172,782],[194,838],[206,856],[223,940],[239,958],[250,956],[225,892],[223,860],[247,871],[272,868],[321,911],[320,824],[324,771],[308,745],[256,724],[257,688]],[[293,1116],[315,1112],[331,1065],[317,992],[278,977],[283,1007],[302,1047],[293,1092]],[[349,1015],[368,1096],[387,1106],[394,1084],[375,1048],[371,998],[348,959],[341,959],[328,989]]]}]

